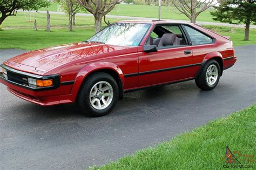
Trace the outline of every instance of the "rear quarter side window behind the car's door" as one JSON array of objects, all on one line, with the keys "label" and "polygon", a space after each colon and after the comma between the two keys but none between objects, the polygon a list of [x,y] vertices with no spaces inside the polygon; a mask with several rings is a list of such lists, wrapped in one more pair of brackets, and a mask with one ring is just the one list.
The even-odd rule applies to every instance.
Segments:
[{"label": "rear quarter side window behind the car's door", "polygon": [[193,45],[212,43],[213,39],[204,35],[203,33],[185,25],[188,35],[190,36]]}]

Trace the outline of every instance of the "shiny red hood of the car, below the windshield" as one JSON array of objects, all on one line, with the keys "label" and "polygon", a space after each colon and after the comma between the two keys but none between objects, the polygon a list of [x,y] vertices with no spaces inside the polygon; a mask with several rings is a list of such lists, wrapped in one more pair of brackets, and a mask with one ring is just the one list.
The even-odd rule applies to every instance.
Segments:
[{"label": "shiny red hood of the car, below the windshield", "polygon": [[129,46],[107,45],[102,43],[74,43],[26,52],[9,59],[6,63],[12,67],[26,65],[34,67],[37,71],[45,72],[53,67],[74,60],[85,59],[90,56],[127,48],[129,48]]}]

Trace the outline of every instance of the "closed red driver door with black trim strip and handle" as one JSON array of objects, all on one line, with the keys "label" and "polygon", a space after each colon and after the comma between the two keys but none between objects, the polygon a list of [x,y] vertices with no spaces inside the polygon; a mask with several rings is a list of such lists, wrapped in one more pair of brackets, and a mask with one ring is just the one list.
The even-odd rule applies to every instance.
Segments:
[{"label": "closed red driver door with black trim strip and handle", "polygon": [[[161,25],[161,27],[169,28],[167,30],[171,33],[186,38],[180,25]],[[152,34],[155,34],[154,31]],[[187,43],[187,40],[181,39],[180,42]],[[190,71],[193,64],[192,48],[187,44],[159,46],[156,52],[144,52],[143,46],[140,46],[138,86],[158,85],[193,77]]]}]

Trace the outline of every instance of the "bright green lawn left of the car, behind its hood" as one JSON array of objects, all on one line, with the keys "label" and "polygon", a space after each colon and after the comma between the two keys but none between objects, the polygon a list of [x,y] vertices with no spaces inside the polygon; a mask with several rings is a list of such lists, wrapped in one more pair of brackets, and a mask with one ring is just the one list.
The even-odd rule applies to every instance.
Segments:
[{"label": "bright green lawn left of the car, behind its hood", "polygon": [[82,42],[94,34],[93,28],[76,29],[69,32],[67,29],[11,29],[0,31],[0,49],[36,50],[44,47]]}]

